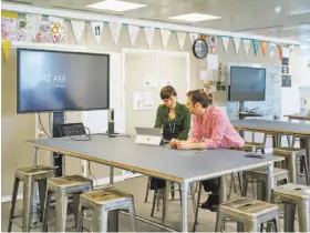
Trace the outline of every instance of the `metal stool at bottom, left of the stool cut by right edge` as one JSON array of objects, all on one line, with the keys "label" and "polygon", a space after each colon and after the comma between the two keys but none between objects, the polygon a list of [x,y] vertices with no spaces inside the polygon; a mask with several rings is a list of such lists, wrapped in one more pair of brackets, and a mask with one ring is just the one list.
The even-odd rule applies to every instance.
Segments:
[{"label": "metal stool at bottom, left of the stool cut by right edge", "polygon": [[216,232],[221,231],[224,220],[237,222],[237,231],[260,232],[261,224],[273,222],[276,232],[280,231],[278,206],[254,199],[238,199],[219,205],[217,212]]}]

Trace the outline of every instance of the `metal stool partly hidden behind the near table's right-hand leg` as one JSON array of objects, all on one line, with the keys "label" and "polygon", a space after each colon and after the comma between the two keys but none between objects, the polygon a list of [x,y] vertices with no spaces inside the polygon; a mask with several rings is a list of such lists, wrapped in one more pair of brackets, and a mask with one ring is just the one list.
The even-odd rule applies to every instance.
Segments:
[{"label": "metal stool partly hidden behind the near table's right-hand leg", "polygon": [[[247,196],[248,183],[257,183],[257,199],[265,201],[266,200],[266,184],[268,182],[268,172],[267,169],[256,169],[251,171],[244,172],[244,194]],[[286,183],[289,181],[289,172],[286,169],[275,168],[272,172],[272,179],[275,185],[278,185],[279,181],[286,180]],[[254,192],[255,195],[255,192]]]}]

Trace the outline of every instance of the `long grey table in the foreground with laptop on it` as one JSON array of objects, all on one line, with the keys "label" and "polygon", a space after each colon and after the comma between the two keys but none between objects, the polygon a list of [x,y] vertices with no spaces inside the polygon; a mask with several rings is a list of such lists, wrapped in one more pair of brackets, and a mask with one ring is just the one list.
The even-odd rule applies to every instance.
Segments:
[{"label": "long grey table in the foreground with laptop on it", "polygon": [[[271,179],[273,162],[283,160],[271,154],[266,154],[264,159],[245,158],[246,152],[231,150],[180,151],[169,149],[168,145],[142,145],[135,144],[134,139],[106,135],[92,135],[91,141],[55,138],[29,142],[34,144],[34,164],[38,164],[38,150],[43,149],[179,183],[183,200],[183,232],[188,231],[187,200],[190,183],[221,178],[220,201],[224,202],[226,201],[224,175],[267,166],[269,175],[267,196],[270,200],[271,189],[275,185]],[[110,183],[113,184],[113,171],[110,174]]]}]

